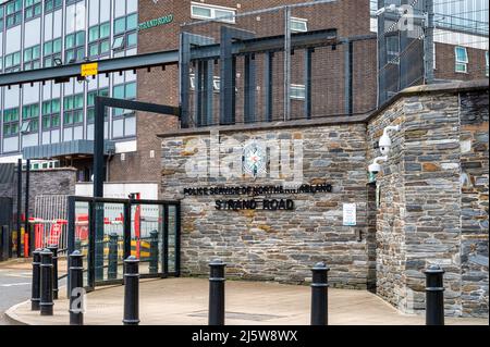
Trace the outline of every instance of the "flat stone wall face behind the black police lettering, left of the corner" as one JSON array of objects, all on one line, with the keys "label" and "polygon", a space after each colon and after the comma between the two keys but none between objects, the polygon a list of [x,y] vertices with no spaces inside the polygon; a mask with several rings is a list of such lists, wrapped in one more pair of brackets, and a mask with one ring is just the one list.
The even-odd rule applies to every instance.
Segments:
[{"label": "flat stone wall face behind the black police lettering, left of the corner", "polygon": [[[222,144],[230,139],[238,144],[250,139],[303,140],[303,182],[331,184],[333,191],[280,196],[294,199],[294,211],[219,211],[215,200],[222,197],[184,198],[186,187],[260,186],[281,184],[282,181],[189,177],[185,165],[191,158],[206,153],[205,141],[209,144],[209,133],[163,138],[161,195],[163,198],[183,198],[183,273],[207,275],[208,262],[219,257],[229,264],[228,275],[232,277],[302,283],[310,277],[310,268],[316,262],[326,261],[331,268],[332,285],[366,288],[365,134],[365,124],[221,133]],[[224,154],[225,150],[221,156]],[[343,226],[344,202],[357,205],[356,227]],[[362,231],[362,241],[357,240],[356,231]]]}]

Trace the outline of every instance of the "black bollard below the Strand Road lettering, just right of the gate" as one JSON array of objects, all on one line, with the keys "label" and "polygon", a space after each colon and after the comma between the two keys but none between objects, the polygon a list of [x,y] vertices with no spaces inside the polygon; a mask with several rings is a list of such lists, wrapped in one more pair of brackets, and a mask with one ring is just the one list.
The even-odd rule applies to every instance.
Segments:
[{"label": "black bollard below the Strand Road lettering, just right of the gate", "polygon": [[221,260],[209,263],[209,325],[224,325],[224,268]]}]

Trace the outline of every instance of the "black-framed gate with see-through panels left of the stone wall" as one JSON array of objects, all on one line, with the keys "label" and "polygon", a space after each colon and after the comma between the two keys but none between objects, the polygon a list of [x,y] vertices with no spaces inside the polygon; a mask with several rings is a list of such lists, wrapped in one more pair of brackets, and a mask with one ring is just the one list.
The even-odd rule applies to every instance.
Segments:
[{"label": "black-framed gate with see-through panels left of the stone wall", "polygon": [[69,197],[68,251],[86,256],[86,289],[122,284],[130,256],[142,278],[179,276],[180,213],[180,201]]}]

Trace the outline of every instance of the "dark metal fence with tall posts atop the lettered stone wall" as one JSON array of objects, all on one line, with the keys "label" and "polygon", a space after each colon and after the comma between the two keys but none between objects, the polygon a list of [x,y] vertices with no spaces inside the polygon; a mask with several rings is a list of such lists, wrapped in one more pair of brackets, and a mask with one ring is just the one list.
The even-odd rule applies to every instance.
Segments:
[{"label": "dark metal fence with tall posts atop the lettered stone wall", "polygon": [[366,52],[376,52],[376,35],[343,36],[332,5],[297,3],[182,25],[183,127],[372,111],[376,54]]}]

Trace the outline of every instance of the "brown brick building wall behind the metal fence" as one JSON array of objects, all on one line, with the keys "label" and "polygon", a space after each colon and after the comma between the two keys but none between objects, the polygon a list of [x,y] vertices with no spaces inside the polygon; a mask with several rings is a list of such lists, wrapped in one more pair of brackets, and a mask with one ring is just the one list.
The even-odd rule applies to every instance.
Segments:
[{"label": "brown brick building wall behind the metal fence", "polygon": [[[236,2],[230,0],[204,1],[216,5],[224,5],[235,8],[237,13],[249,12],[257,9],[273,8],[285,3],[297,3],[303,1],[284,1],[284,0],[267,0],[267,1],[244,1]],[[319,11],[321,9],[321,11]],[[362,10],[364,9],[364,10]],[[326,16],[324,13],[335,13],[335,15]],[[163,15],[173,14],[174,21],[171,24],[154,27],[138,33],[138,53],[147,53],[158,50],[169,50],[179,48],[180,25],[195,21],[191,18],[191,2],[188,1],[159,1],[155,4],[152,1],[139,2],[139,23],[158,18]],[[339,36],[348,37],[353,35],[367,34],[369,32],[369,11],[368,1],[348,0],[336,1],[331,4],[316,5],[306,9],[297,9],[293,11],[293,16],[307,17],[310,29],[315,28],[338,28]],[[274,16],[278,23],[269,21],[267,15],[262,15],[261,22],[257,25],[256,16],[250,16],[237,21],[236,26],[254,27],[257,35],[278,35],[283,33],[283,18],[281,15]],[[353,20],[355,18],[355,20]],[[187,29],[187,28],[186,28]],[[201,28],[206,32],[211,30],[210,26]],[[189,29],[191,30],[191,29]],[[198,30],[198,29],[196,29]],[[376,44],[370,45],[372,48]],[[376,104],[376,62],[362,60],[365,47],[356,45],[355,70],[365,72],[364,76],[369,77],[369,82],[360,78],[355,80],[354,89],[365,88],[367,84],[371,87],[367,88],[369,92],[355,92],[355,112],[366,112]],[[331,52],[330,48],[320,49],[314,57],[314,92],[313,104],[314,114],[342,114],[345,113],[345,100],[343,97],[344,87],[340,86],[343,78],[343,52],[339,48],[336,52]],[[375,57],[376,54],[371,54]],[[277,119],[282,119],[283,109],[283,87],[282,87],[282,61],[278,54],[274,67],[274,100],[278,100],[273,107]],[[293,70],[303,71],[303,59],[301,52],[293,55]],[[371,66],[372,65],[372,66]],[[296,66],[296,67],[294,67]],[[238,67],[237,72],[241,70]],[[219,65],[216,66],[215,75],[219,75]],[[242,73],[243,76],[243,73]],[[294,76],[293,76],[294,77]],[[262,86],[262,69],[258,69],[257,85]],[[156,102],[170,106],[179,106],[179,71],[176,66],[169,66],[166,71],[154,69],[151,72],[138,71],[138,100]],[[303,84],[302,77],[294,77],[293,83]],[[237,87],[242,88],[243,80],[237,78]],[[329,90],[328,100],[324,97],[324,90]],[[215,119],[219,117],[218,95],[215,97]],[[328,102],[327,102],[328,101]],[[243,119],[243,101],[237,99],[237,121]],[[303,101],[292,101],[292,117],[302,117]],[[315,106],[316,109],[315,109]],[[264,100],[261,92],[257,92],[257,116],[260,117],[264,112]],[[145,112],[137,113],[137,151],[125,153],[125,160],[121,160],[121,154],[114,156],[110,163],[110,172],[112,181],[158,181],[159,177],[159,160],[160,144],[156,138],[156,134],[166,129],[176,128],[179,122],[173,116],[155,115]],[[155,158],[150,158],[150,151],[155,151]]]}]

